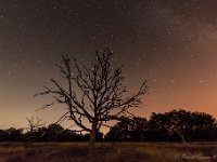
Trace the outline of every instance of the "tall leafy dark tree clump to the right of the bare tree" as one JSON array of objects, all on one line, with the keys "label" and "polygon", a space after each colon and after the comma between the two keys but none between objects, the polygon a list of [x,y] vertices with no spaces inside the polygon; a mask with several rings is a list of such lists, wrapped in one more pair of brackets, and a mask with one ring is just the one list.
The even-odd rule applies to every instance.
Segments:
[{"label": "tall leafy dark tree clump to the right of the bare tree", "polygon": [[173,110],[152,113],[150,120],[123,118],[105,135],[115,141],[213,141],[217,140],[216,120],[204,112]]}]

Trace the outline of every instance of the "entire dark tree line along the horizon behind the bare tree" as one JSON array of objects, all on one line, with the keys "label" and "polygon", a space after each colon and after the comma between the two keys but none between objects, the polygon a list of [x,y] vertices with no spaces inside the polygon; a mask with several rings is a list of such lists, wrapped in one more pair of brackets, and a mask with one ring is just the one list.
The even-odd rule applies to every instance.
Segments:
[{"label": "entire dark tree line along the horizon behind the bare tree", "polygon": [[[31,121],[31,122],[29,122]],[[0,130],[0,141],[88,141],[90,134],[79,134],[60,124],[37,126],[28,120],[29,127]],[[34,126],[35,125],[35,126]],[[103,135],[98,132],[97,141],[215,141],[217,122],[205,112],[171,110],[164,113],[153,112],[150,119],[122,117]]]}]

